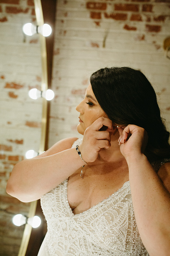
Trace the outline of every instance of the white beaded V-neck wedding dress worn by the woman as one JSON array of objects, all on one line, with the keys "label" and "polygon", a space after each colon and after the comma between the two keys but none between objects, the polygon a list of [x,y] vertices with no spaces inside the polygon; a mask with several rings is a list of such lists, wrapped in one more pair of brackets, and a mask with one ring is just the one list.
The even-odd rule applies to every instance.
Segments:
[{"label": "white beaded V-neck wedding dress worn by the woman", "polygon": [[149,256],[138,233],[129,181],[79,214],[69,206],[67,182],[41,197],[47,234],[38,256]]}]

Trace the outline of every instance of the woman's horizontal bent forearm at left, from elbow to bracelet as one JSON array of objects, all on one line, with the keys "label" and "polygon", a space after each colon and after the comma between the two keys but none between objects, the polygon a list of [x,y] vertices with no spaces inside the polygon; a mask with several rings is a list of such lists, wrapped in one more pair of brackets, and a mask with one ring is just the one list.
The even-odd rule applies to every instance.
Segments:
[{"label": "woman's horizontal bent forearm at left, from elbow to bracelet", "polygon": [[83,165],[75,148],[16,164],[6,191],[23,202],[39,199]]}]

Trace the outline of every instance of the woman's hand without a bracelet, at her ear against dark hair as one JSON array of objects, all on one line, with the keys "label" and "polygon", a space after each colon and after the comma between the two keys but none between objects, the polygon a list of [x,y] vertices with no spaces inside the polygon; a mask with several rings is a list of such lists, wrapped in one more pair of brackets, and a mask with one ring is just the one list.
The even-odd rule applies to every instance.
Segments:
[{"label": "woman's hand without a bracelet, at her ear against dark hair", "polygon": [[121,154],[126,158],[129,155],[143,154],[148,142],[148,135],[145,129],[129,124],[126,127],[118,127],[120,134],[118,143]]}]

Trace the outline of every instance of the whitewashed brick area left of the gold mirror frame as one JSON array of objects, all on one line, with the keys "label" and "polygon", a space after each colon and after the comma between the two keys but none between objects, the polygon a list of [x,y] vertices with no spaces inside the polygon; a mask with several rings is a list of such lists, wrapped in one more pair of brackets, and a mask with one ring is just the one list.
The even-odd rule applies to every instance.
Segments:
[{"label": "whitewashed brick area left of the gold mirror frame", "polygon": [[28,91],[41,86],[39,36],[24,36],[24,23],[35,21],[34,1],[0,0],[0,256],[18,255],[24,226],[13,215],[27,215],[30,203],[6,194],[13,166],[27,150],[38,151],[41,99]]}]

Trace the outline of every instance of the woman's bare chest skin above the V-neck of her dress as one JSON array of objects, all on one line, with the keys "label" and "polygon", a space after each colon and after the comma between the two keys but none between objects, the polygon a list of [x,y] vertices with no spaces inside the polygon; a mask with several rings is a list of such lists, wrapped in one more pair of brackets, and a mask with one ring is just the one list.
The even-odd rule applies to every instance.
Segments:
[{"label": "woman's bare chest skin above the V-neck of her dress", "polygon": [[84,212],[108,198],[129,180],[126,167],[115,169],[114,166],[88,166],[68,179],[67,199],[74,214]]}]

